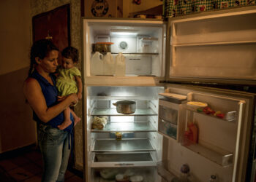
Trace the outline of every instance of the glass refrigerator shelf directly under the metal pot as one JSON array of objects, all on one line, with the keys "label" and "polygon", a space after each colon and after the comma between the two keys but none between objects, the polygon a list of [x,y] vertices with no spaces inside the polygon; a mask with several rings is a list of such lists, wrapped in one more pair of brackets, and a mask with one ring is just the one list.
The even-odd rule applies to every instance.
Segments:
[{"label": "glass refrigerator shelf directly under the metal pot", "polygon": [[91,116],[157,116],[151,108],[136,108],[133,114],[120,114],[116,108],[94,108]]}]

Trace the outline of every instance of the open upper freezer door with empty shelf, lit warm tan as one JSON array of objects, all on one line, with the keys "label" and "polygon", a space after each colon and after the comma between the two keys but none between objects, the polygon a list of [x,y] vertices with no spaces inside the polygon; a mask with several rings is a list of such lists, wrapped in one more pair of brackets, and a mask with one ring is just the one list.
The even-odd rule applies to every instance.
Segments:
[{"label": "open upper freezer door with empty shelf, lit warm tan", "polygon": [[255,7],[170,18],[169,81],[255,84]]}]

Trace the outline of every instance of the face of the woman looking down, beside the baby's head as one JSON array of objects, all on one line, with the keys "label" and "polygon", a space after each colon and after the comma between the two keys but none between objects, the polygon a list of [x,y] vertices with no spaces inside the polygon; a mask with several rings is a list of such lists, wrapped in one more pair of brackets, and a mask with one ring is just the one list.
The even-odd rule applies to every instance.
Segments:
[{"label": "face of the woman looking down, beside the baby's head", "polygon": [[39,66],[41,66],[45,72],[54,73],[58,66],[58,58],[59,51],[52,50],[45,58],[39,60]]}]

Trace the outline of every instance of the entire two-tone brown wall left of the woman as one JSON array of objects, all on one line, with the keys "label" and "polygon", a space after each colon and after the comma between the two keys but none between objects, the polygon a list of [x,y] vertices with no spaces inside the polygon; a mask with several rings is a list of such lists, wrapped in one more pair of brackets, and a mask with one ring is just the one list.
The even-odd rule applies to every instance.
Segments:
[{"label": "entire two-tone brown wall left of the woman", "polygon": [[0,1],[0,153],[36,142],[23,81],[31,46],[29,0]]}]

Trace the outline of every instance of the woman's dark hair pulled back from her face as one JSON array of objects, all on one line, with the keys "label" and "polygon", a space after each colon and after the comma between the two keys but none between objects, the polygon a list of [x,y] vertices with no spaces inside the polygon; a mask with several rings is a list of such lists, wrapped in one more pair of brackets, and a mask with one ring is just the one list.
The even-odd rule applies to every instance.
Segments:
[{"label": "woman's dark hair pulled back from her face", "polygon": [[52,50],[59,51],[59,49],[49,39],[41,39],[41,40],[34,42],[34,44],[31,47],[31,50],[30,50],[29,76],[31,75],[32,71],[34,70],[34,66],[37,64],[35,58],[38,57],[39,59],[42,60]]}]

